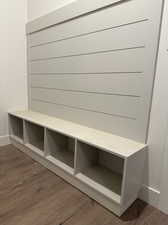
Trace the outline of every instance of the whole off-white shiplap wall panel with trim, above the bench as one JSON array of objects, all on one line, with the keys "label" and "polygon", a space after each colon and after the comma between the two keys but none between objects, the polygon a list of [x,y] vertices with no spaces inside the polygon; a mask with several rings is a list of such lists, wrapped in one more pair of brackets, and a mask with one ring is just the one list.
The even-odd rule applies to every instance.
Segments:
[{"label": "whole off-white shiplap wall panel with trim, above the bench", "polygon": [[145,142],[162,2],[80,0],[29,23],[30,109]]}]

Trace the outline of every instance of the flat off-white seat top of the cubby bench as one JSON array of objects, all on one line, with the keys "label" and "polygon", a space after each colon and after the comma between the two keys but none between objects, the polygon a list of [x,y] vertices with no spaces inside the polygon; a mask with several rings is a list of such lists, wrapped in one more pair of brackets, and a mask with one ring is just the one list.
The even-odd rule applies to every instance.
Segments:
[{"label": "flat off-white seat top of the cubby bench", "polygon": [[131,139],[34,111],[16,111],[9,112],[9,114],[67,136],[74,137],[122,158],[130,157],[147,146],[146,144]]}]

